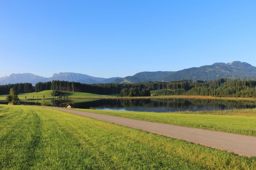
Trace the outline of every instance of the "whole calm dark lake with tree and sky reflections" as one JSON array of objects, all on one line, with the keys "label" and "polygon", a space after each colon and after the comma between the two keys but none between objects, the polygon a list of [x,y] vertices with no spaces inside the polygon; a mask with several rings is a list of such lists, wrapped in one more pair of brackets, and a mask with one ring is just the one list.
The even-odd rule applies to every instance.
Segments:
[{"label": "whole calm dark lake with tree and sky reflections", "polygon": [[[232,110],[256,108],[255,101],[217,100],[217,99],[75,99],[51,100],[51,105],[98,110],[122,110],[139,112],[176,112],[200,110]],[[40,100],[26,102],[29,105],[40,105]]]}]

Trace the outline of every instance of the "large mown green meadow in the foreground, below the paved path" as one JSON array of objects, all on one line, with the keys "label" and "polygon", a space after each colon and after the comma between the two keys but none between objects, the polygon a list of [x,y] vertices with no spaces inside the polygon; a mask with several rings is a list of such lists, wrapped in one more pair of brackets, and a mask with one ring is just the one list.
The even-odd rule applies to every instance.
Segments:
[{"label": "large mown green meadow in the foreground, below the paved path", "polygon": [[0,169],[255,169],[245,158],[66,112],[0,105]]}]

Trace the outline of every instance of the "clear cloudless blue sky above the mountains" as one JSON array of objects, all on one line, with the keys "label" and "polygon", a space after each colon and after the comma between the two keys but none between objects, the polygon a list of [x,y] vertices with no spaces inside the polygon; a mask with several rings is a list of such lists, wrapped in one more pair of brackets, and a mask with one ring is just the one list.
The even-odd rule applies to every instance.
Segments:
[{"label": "clear cloudless blue sky above the mountains", "polygon": [[0,76],[256,66],[255,0],[2,0]]}]

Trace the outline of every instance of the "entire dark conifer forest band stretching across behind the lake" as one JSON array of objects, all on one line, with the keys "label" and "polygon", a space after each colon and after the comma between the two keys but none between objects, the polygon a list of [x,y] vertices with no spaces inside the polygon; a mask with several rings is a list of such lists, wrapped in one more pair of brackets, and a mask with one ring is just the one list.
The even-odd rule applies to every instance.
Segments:
[{"label": "entire dark conifer forest band stretching across behind the lake", "polygon": [[13,88],[19,93],[43,90],[86,92],[94,94],[118,94],[120,96],[149,95],[203,95],[219,97],[256,97],[256,80],[230,80],[219,78],[212,81],[180,80],[171,82],[144,82],[134,84],[82,84],[69,81],[39,82],[32,84],[8,84],[0,86],[0,94],[8,94]]}]

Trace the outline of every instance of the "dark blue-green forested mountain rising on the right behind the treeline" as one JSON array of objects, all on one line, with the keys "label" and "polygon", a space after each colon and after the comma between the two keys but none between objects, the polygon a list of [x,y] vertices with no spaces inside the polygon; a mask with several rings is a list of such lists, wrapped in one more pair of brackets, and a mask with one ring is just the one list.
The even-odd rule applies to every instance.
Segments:
[{"label": "dark blue-green forested mountain rising on the right behind the treeline", "polygon": [[240,61],[214,63],[201,67],[187,68],[181,71],[141,72],[127,76],[123,82],[176,81],[176,80],[215,80],[217,78],[248,79],[256,78],[256,67]]}]

